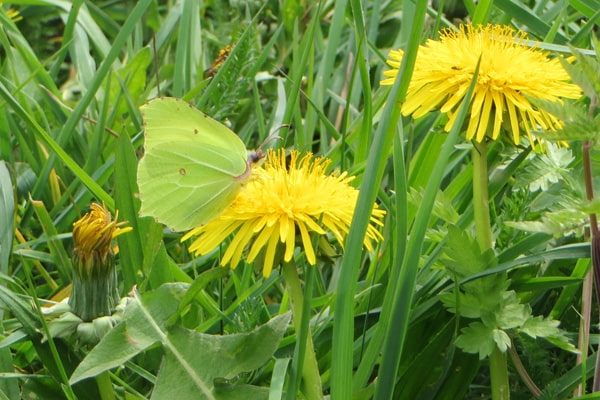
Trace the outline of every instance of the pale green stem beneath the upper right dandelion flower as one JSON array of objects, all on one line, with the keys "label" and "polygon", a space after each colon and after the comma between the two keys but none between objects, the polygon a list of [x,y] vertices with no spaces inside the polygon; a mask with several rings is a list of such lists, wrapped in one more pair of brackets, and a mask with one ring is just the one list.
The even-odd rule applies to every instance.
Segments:
[{"label": "pale green stem beneath the upper right dandelion flower", "polygon": [[[481,251],[491,249],[492,225],[490,221],[490,203],[488,194],[487,143],[473,141],[473,214],[475,218],[475,237]],[[490,355],[490,378],[492,399],[510,398],[508,385],[508,366],[506,353],[498,347]]]}]

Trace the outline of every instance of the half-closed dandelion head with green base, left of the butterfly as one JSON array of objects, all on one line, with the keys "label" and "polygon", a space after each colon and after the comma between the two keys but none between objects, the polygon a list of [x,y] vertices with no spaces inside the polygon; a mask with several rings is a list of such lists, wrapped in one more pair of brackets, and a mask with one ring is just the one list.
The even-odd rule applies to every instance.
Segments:
[{"label": "half-closed dandelion head with green base, left of the butterfly", "polygon": [[71,311],[83,321],[108,316],[119,304],[115,254],[111,241],[132,228],[119,228],[118,214],[93,203],[73,224],[73,291]]}]

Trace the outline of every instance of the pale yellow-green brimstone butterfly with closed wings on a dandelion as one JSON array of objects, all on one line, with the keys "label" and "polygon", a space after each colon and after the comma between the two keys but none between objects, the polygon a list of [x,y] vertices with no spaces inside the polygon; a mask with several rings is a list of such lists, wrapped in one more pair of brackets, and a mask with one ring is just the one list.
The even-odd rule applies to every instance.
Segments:
[{"label": "pale yellow-green brimstone butterfly with closed wings on a dandelion", "polygon": [[175,231],[215,218],[262,156],[248,152],[235,133],[183,100],[158,98],[140,110],[145,128],[137,174],[140,215]]}]

